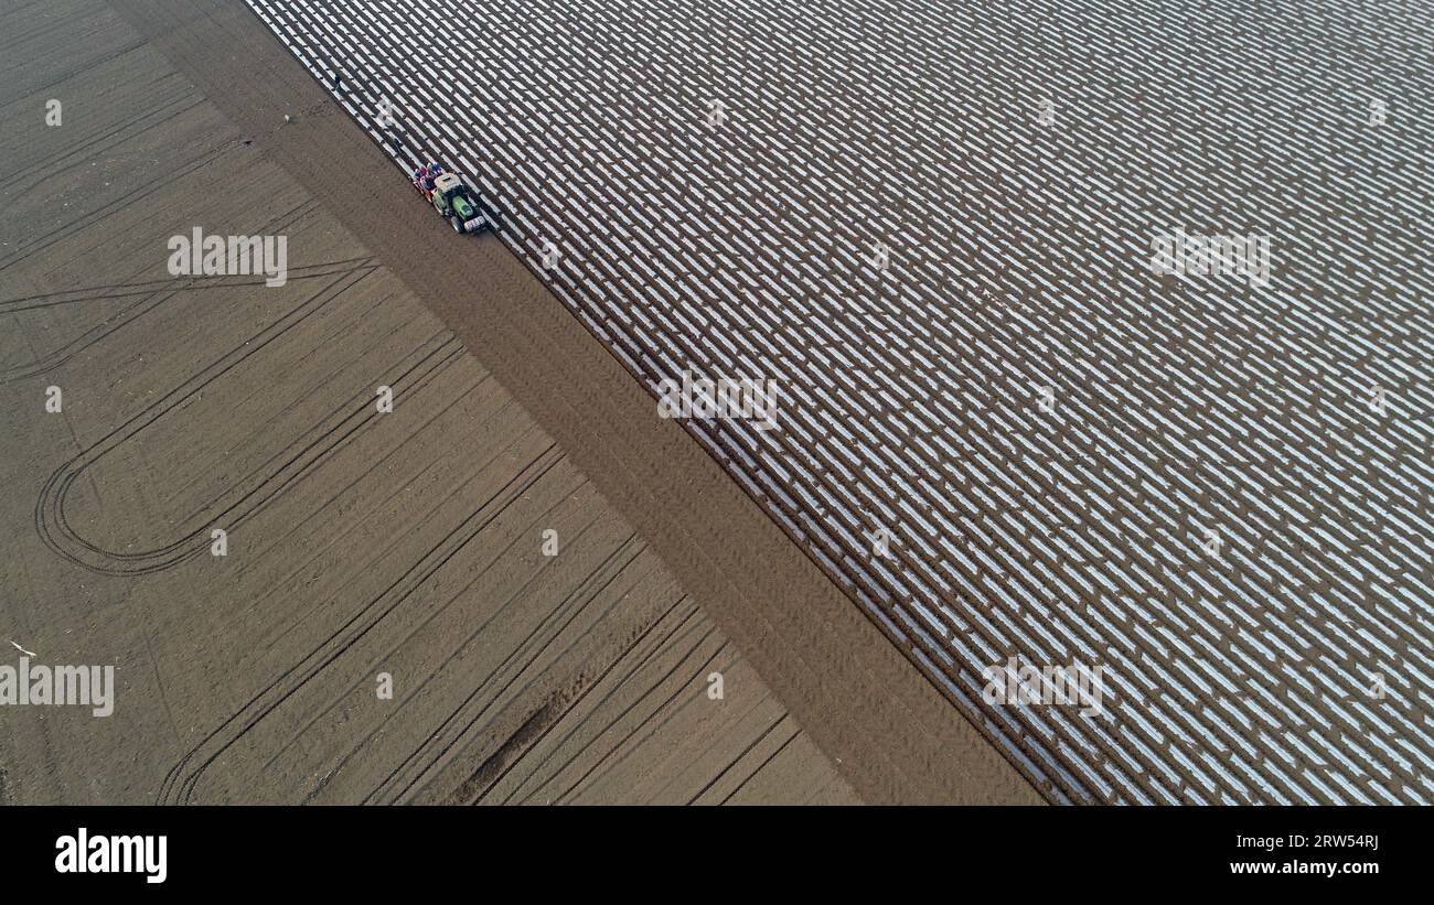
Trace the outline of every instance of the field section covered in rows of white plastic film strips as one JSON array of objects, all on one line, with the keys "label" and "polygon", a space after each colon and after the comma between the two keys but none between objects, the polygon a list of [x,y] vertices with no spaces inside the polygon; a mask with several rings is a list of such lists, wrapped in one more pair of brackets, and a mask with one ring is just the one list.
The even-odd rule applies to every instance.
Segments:
[{"label": "field section covered in rows of white plastic film strips", "polygon": [[248,3],[1048,800],[1431,800],[1427,7]]}]

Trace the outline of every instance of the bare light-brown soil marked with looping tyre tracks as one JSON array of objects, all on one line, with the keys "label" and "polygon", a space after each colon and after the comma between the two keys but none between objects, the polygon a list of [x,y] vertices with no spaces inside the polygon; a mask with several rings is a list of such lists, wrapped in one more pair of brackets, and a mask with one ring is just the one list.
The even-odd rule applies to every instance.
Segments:
[{"label": "bare light-brown soil marked with looping tyre tracks", "polygon": [[[531,401],[571,375],[488,365],[526,274],[427,255],[460,241],[242,7],[198,9],[0,13],[0,663],[118,684],[109,717],[0,709],[0,803],[856,800],[575,454],[644,438],[558,438]],[[288,284],[171,276],[195,225],[287,235]]]}]

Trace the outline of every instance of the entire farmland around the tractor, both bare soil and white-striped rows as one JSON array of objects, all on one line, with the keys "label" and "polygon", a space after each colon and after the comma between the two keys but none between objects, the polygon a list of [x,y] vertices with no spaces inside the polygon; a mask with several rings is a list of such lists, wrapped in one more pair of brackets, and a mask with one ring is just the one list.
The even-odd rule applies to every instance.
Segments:
[{"label": "entire farmland around the tractor, both bare soil and white-striped rows", "polygon": [[1431,33],[4,7],[0,803],[1430,803]]}]

